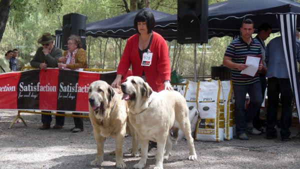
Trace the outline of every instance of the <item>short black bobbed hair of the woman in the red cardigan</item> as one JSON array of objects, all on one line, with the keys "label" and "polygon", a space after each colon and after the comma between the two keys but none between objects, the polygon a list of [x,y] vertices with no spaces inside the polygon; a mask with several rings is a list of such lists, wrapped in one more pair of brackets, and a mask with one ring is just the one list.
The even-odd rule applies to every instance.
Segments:
[{"label": "short black bobbed hair of the woman in the red cardigan", "polygon": [[134,17],[134,28],[137,33],[139,33],[137,29],[137,22],[142,22],[142,21],[147,22],[148,33],[151,33],[155,25],[154,15],[148,10],[141,10],[138,13],[136,13]]}]

